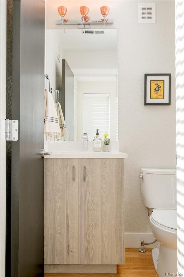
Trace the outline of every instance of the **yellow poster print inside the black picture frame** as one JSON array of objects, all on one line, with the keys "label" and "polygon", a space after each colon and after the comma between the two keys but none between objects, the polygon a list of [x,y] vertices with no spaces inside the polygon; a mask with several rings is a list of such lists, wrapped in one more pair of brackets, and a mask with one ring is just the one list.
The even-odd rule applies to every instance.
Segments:
[{"label": "yellow poster print inside the black picture frame", "polygon": [[150,80],[150,99],[164,99],[164,80]]}]

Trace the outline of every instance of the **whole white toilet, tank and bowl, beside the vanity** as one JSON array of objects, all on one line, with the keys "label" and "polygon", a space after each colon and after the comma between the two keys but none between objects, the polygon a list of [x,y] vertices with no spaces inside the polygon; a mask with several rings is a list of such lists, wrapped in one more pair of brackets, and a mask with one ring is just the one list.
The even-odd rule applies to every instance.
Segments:
[{"label": "whole white toilet, tank and bowl, beside the vanity", "polygon": [[144,205],[152,210],[150,225],[159,242],[152,250],[158,276],[177,274],[176,169],[141,169],[141,194]]}]

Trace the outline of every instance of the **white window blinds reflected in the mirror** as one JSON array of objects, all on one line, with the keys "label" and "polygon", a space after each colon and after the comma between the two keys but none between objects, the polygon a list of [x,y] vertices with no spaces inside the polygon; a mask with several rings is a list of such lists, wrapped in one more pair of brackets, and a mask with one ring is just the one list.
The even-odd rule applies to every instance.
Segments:
[{"label": "white window blinds reflected in the mirror", "polygon": [[87,133],[89,140],[93,140],[96,130],[100,137],[104,133],[110,136],[110,94],[84,93],[83,133]]}]

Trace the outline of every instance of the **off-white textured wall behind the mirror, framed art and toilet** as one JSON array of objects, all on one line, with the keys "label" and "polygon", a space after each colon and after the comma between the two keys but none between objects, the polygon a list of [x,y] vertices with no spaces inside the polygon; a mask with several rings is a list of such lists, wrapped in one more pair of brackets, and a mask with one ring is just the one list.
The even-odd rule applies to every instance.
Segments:
[{"label": "off-white textured wall behind the mirror, framed art and toilet", "polygon": [[[91,18],[110,6],[109,18],[118,28],[118,112],[120,151],[125,159],[125,231],[149,233],[149,218],[141,199],[141,167],[175,167],[175,2],[156,3],[156,23],[138,23],[138,3],[147,1],[85,1]],[[60,1],[46,1],[47,29],[60,29]],[[62,1],[67,18],[78,18],[84,1]],[[53,14],[53,16],[50,16]],[[70,26],[66,27],[71,28]],[[72,27],[77,28],[76,27]],[[95,29],[98,26],[95,27]],[[100,26],[99,26],[100,28]],[[109,28],[107,26],[107,28]],[[144,106],[144,74],[171,73],[171,105]]]}]

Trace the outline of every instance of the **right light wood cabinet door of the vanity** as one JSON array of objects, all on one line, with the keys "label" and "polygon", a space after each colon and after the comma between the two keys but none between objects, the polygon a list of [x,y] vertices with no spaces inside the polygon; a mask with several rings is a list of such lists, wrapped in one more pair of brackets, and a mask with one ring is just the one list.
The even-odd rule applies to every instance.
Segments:
[{"label": "right light wood cabinet door of the vanity", "polygon": [[81,264],[124,263],[124,159],[80,159]]}]

